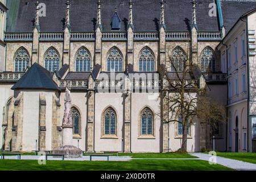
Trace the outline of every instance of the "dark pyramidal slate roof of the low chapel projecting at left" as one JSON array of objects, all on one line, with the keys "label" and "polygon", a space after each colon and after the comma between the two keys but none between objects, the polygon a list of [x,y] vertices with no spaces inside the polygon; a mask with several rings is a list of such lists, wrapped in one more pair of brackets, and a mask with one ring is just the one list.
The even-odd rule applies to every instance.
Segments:
[{"label": "dark pyramidal slate roof of the low chapel projecting at left", "polygon": [[52,80],[51,73],[37,63],[33,64],[11,89],[60,90]]}]

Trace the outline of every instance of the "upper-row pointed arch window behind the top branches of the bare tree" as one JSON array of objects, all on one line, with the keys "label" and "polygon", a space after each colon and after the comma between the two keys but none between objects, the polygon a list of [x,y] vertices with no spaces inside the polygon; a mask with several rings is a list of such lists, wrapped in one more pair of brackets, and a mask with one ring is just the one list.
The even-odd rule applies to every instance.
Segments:
[{"label": "upper-row pointed arch window behind the top branches of the bare tree", "polygon": [[186,60],[187,56],[183,49],[180,47],[175,48],[171,56],[171,72],[183,72]]}]

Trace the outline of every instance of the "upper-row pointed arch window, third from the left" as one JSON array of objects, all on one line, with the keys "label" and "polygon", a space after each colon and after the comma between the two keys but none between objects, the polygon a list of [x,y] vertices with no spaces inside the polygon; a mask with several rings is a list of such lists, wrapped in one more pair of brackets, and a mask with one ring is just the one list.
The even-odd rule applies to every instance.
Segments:
[{"label": "upper-row pointed arch window, third from the left", "polygon": [[76,72],[90,72],[90,53],[82,47],[76,53]]}]

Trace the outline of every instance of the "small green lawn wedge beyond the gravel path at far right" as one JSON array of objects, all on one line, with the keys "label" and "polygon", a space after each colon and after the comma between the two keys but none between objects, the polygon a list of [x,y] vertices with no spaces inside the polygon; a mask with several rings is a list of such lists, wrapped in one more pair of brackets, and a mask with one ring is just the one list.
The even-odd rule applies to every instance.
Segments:
[{"label": "small green lawn wedge beyond the gravel path at far right", "polygon": [[217,156],[256,164],[256,153],[217,152]]}]

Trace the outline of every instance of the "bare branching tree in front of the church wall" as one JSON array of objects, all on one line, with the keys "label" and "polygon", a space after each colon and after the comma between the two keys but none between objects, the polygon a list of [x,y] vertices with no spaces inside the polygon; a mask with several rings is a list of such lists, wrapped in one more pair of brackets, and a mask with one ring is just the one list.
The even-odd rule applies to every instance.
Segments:
[{"label": "bare branching tree in front of the church wall", "polygon": [[165,123],[182,124],[181,152],[187,152],[187,127],[196,119],[200,123],[210,123],[213,129],[217,122],[225,121],[225,107],[209,97],[207,88],[200,86],[202,75],[197,74],[196,78],[194,74],[200,69],[185,55],[183,49],[178,48],[160,66],[163,80],[161,115]]}]

